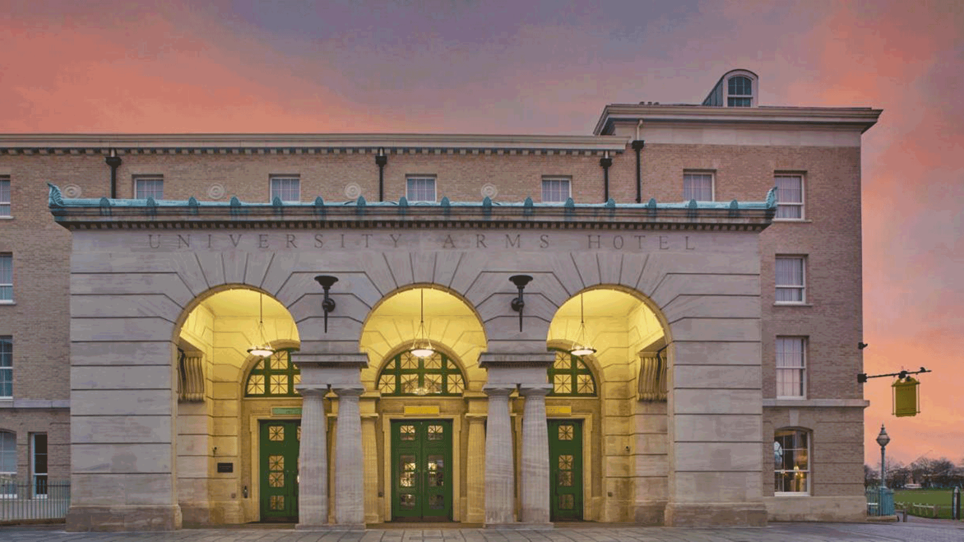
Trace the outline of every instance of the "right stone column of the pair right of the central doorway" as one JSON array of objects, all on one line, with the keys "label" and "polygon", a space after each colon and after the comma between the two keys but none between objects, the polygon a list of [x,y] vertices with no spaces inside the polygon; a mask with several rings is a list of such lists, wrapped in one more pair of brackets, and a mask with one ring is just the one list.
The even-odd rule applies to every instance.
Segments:
[{"label": "right stone column of the pair right of the central doorway", "polygon": [[522,385],[522,523],[549,523],[549,429],[546,423],[546,394],[549,384]]}]

